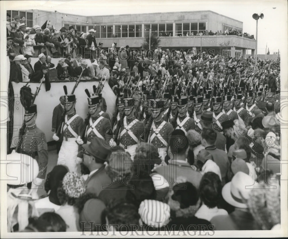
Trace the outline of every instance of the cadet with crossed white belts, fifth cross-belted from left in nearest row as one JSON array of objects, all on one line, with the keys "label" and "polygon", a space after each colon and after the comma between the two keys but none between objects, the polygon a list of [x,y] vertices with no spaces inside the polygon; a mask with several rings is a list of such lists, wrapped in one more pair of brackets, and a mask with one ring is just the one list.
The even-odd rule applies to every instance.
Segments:
[{"label": "cadet with crossed white belts, fifth cross-belted from left in nearest row", "polygon": [[174,121],[176,121],[176,127],[175,129],[181,129],[184,131],[185,135],[187,134],[187,131],[190,129],[195,128],[195,122],[194,119],[190,118],[186,115],[187,112],[187,96],[181,96],[180,99],[178,99],[177,103],[177,109],[178,109],[178,117]]}]

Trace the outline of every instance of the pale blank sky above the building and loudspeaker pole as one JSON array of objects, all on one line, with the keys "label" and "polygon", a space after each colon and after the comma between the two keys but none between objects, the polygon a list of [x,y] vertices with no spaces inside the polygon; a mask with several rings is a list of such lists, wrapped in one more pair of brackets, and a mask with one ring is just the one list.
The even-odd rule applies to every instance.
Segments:
[{"label": "pale blank sky above the building and loudspeaker pole", "polygon": [[[20,2],[20,4],[19,4]],[[265,54],[266,43],[270,54],[287,48],[287,1],[151,1],[151,0],[106,0],[106,1],[7,1],[9,9],[33,9],[58,11],[84,16],[137,14],[152,12],[181,12],[211,10],[243,22],[243,32],[256,37],[254,13],[264,14],[258,20],[258,54]],[[276,7],[275,9],[273,9]],[[31,7],[30,7],[31,8]],[[209,29],[208,29],[209,30]],[[221,30],[221,29],[219,29]]]}]

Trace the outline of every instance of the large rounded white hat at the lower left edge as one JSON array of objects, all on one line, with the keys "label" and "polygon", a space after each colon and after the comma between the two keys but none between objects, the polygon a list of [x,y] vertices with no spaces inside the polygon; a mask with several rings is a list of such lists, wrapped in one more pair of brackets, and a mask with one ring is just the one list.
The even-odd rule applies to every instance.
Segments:
[{"label": "large rounded white hat at the lower left edge", "polygon": [[36,159],[27,154],[16,153],[15,150],[6,157],[5,173],[2,172],[4,180],[10,185],[21,185],[32,182],[39,173]]}]

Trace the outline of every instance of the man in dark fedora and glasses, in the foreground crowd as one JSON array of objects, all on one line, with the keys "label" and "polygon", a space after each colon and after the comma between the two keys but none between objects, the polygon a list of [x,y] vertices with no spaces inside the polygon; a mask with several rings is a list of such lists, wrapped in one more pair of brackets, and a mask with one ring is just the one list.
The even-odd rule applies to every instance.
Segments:
[{"label": "man in dark fedora and glasses, in the foreground crowd", "polygon": [[111,148],[103,144],[103,139],[94,137],[90,144],[83,144],[84,158],[83,164],[89,169],[90,174],[86,179],[88,193],[99,195],[103,186],[111,184],[111,179],[105,170],[105,162],[108,162],[108,156]]}]

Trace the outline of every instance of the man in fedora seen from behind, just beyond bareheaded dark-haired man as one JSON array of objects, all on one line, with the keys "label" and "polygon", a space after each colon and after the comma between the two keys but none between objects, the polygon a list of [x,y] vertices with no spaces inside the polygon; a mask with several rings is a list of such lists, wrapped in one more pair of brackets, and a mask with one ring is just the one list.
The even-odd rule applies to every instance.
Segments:
[{"label": "man in fedora seen from behind, just beyond bareheaded dark-haired man", "polygon": [[[215,119],[213,118],[213,113],[211,111],[203,111],[202,115],[200,116],[200,124],[202,126],[202,129],[213,129],[213,122]],[[221,134],[218,131],[215,131],[217,133],[215,146],[217,149],[226,150],[226,138],[223,134]]]}]

